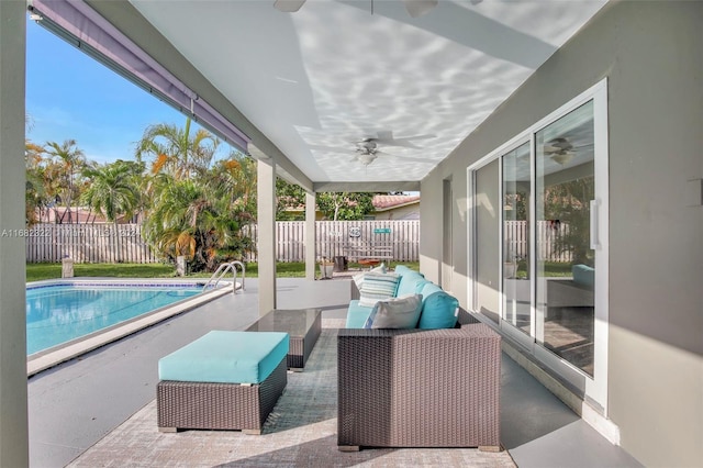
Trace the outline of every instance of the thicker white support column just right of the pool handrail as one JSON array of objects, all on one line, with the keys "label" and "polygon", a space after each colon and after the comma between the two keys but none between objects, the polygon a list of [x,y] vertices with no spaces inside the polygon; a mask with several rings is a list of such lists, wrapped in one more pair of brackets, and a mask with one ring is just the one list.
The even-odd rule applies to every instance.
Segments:
[{"label": "thicker white support column just right of the pool handrail", "polygon": [[259,315],[265,315],[276,309],[276,163],[258,156]]}]

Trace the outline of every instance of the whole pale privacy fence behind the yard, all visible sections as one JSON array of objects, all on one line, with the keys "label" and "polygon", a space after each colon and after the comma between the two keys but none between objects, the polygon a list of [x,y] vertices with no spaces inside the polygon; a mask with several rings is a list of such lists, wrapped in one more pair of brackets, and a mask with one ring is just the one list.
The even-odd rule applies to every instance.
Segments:
[{"label": "whole pale privacy fence behind the yard, all visible sections", "polygon": [[[305,260],[304,225],[303,221],[276,223],[278,261]],[[257,226],[246,230],[256,245]],[[417,261],[420,258],[419,220],[317,221],[315,231],[316,259],[373,254],[395,261]],[[27,263],[56,263],[66,256],[79,264],[159,261],[142,239],[138,224],[120,224],[116,230],[112,224],[37,224],[20,234],[26,238]],[[248,254],[245,260],[256,261],[256,252]]]}]

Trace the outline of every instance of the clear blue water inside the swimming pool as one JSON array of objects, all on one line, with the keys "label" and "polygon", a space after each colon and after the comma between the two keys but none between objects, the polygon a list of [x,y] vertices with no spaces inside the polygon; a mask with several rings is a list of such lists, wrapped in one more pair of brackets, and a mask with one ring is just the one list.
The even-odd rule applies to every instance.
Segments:
[{"label": "clear blue water inside the swimming pool", "polygon": [[202,287],[56,285],[26,290],[26,353],[38,353],[191,298]]}]

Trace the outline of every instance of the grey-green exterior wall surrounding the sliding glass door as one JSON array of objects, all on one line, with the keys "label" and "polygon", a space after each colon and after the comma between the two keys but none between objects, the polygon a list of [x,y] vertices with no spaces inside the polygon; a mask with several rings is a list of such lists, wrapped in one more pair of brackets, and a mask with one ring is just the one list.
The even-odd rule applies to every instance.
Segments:
[{"label": "grey-green exterior wall surrounding the sliding glass door", "polygon": [[[687,193],[688,180],[703,178],[701,24],[701,2],[610,3],[421,188],[421,269],[433,279],[442,181],[454,175],[460,282],[467,166],[607,77],[609,417],[646,466],[703,459],[703,208]],[[465,291],[454,289],[466,307]]]}]

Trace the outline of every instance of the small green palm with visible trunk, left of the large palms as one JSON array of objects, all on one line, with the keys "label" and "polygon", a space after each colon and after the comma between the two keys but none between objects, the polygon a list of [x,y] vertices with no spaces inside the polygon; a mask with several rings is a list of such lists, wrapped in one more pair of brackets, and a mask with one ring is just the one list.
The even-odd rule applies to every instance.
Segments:
[{"label": "small green palm with visible trunk, left of the large palms", "polygon": [[122,261],[118,216],[124,214],[125,218],[130,218],[137,208],[140,201],[137,178],[143,170],[144,165],[141,163],[118,159],[103,166],[86,167],[82,171],[83,177],[90,180],[90,185],[82,193],[81,201],[114,224],[118,261]]}]

